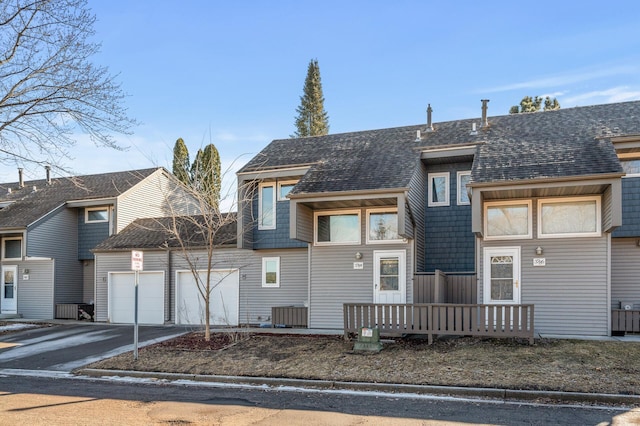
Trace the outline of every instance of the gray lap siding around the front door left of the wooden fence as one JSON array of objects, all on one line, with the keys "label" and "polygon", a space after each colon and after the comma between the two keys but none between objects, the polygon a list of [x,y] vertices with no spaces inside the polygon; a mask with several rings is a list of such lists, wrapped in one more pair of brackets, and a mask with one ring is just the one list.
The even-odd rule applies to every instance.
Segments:
[{"label": "gray lap siding around the front door left of the wooden fence", "polygon": [[[365,211],[361,217],[366,218]],[[406,250],[407,303],[413,300],[412,244],[364,244],[366,226],[362,223],[360,245],[311,247],[311,300],[309,328],[344,327],[344,303],[373,303],[373,252]],[[353,269],[355,253],[362,253],[364,269]]]}]

